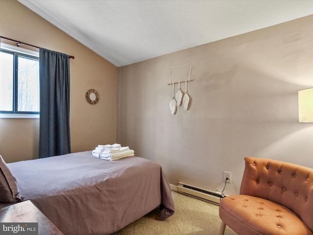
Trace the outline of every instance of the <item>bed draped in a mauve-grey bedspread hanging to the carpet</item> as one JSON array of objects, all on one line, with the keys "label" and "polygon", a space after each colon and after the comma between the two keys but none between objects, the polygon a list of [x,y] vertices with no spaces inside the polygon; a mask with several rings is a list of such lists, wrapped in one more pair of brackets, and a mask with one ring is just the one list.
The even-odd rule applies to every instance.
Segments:
[{"label": "bed draped in a mauve-grey bedspread hanging to the carpet", "polygon": [[159,220],[175,211],[161,166],[144,158],[106,161],[86,151],[6,165],[19,196],[65,235],[109,235],[156,208]]}]

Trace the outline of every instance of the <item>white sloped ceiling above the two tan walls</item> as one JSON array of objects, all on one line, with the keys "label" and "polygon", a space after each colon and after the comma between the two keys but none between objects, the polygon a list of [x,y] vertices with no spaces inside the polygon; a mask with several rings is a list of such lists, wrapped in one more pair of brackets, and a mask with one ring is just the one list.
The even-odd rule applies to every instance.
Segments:
[{"label": "white sloped ceiling above the two tan walls", "polygon": [[115,66],[313,14],[313,0],[19,0]]}]

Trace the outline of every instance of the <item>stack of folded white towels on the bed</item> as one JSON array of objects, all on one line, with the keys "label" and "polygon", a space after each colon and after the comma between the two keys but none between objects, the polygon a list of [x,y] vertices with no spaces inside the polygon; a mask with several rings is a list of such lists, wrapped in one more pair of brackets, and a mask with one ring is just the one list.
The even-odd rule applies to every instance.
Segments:
[{"label": "stack of folded white towels on the bed", "polygon": [[98,145],[92,150],[92,155],[108,161],[134,156],[134,150],[128,146],[122,147],[119,143]]}]

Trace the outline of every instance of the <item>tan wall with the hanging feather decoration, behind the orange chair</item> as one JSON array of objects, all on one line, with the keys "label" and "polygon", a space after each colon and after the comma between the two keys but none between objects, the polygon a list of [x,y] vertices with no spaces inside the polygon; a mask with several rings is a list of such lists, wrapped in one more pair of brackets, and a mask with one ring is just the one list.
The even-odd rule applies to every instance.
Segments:
[{"label": "tan wall with the hanging feather decoration, behind the orange chair", "polygon": [[[119,68],[117,140],[174,185],[222,190],[230,171],[226,194],[239,193],[246,156],[313,167],[313,124],[297,116],[297,91],[313,87],[312,29],[308,16]],[[188,63],[192,104],[171,115],[169,68]]]}]

